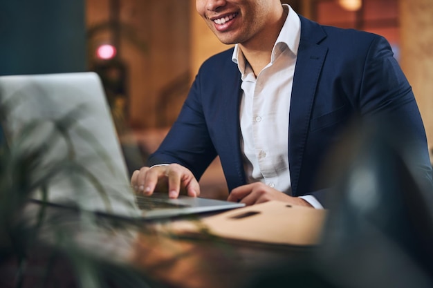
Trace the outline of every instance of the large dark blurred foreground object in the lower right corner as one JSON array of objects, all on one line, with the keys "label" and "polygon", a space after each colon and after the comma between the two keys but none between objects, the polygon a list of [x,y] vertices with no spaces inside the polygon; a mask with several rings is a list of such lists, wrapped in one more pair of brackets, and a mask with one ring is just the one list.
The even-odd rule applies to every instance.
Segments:
[{"label": "large dark blurred foreground object in the lower right corner", "polygon": [[322,244],[252,287],[433,287],[431,170],[396,124],[351,127],[326,166],[335,185]]}]

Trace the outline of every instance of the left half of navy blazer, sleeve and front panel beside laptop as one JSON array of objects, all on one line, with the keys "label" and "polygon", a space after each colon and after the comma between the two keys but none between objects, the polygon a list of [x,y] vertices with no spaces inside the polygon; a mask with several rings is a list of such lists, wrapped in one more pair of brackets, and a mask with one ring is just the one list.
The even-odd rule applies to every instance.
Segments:
[{"label": "left half of navy blazer, sleeve and front panel beside laptop", "polygon": [[229,191],[246,183],[239,136],[241,76],[233,48],[206,60],[178,115],[148,165],[178,163],[197,180],[219,155]]}]

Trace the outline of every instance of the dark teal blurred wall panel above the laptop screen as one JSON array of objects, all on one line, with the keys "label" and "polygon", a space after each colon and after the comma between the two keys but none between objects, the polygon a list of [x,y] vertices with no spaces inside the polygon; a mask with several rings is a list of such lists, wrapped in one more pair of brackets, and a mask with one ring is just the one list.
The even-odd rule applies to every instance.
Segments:
[{"label": "dark teal blurred wall panel above the laptop screen", "polygon": [[0,75],[86,70],[84,1],[0,1]]}]

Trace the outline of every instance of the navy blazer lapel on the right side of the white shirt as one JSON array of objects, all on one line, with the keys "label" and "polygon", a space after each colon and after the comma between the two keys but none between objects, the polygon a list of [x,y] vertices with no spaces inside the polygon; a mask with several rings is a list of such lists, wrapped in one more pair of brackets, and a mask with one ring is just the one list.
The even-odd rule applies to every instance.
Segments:
[{"label": "navy blazer lapel on the right side of the white shirt", "polygon": [[317,82],[327,52],[327,48],[317,45],[326,37],[322,28],[313,21],[304,17],[300,18],[301,40],[293,77],[288,131],[288,162],[292,193],[295,196],[303,192],[298,191],[298,180],[302,169],[302,158],[308,137]]}]

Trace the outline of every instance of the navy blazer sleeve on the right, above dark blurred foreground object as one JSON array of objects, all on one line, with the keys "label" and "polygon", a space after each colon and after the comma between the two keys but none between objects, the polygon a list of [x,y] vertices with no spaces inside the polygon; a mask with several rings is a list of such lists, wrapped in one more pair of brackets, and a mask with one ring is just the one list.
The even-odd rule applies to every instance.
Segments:
[{"label": "navy blazer sleeve on the right, above dark blurred foreground object", "polygon": [[[342,90],[352,92],[347,99],[360,122],[360,129],[385,129],[398,153],[402,156],[409,155],[406,164],[415,177],[421,180],[421,185],[432,189],[432,164],[421,114],[412,87],[385,38],[376,35],[371,41],[361,71],[361,74],[351,74],[353,79],[342,84],[347,85]],[[309,194],[325,203],[324,207],[327,206],[326,195],[329,195],[329,189],[319,189]]]}]

